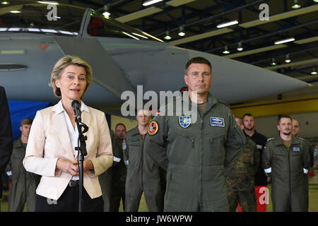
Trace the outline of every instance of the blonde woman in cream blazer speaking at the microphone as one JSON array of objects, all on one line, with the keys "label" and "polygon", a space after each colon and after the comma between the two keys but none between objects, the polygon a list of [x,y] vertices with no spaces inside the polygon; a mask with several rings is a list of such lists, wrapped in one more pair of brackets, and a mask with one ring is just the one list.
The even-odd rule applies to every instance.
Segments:
[{"label": "blonde woman in cream blazer speaking at the microphone", "polygon": [[51,74],[54,95],[61,100],[37,112],[31,126],[23,165],[42,175],[37,186],[35,211],[78,211],[78,129],[71,102],[81,103],[82,122],[88,126],[83,163],[83,211],[102,211],[98,175],[112,166],[112,143],[105,114],[81,99],[92,83],[90,65],[79,57],[66,56]]}]

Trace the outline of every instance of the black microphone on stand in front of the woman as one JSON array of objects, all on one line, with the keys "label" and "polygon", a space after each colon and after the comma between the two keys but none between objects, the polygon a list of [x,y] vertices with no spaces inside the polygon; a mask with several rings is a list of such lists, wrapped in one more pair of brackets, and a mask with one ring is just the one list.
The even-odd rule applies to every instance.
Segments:
[{"label": "black microphone on stand in front of the woman", "polygon": [[[75,150],[79,150],[81,152],[81,155],[79,155],[79,159],[81,162],[81,167],[79,170],[79,176],[80,176],[80,184],[79,184],[79,205],[78,205],[78,211],[83,212],[83,172],[84,172],[84,156],[87,155],[86,150],[86,140],[87,136],[84,136],[83,133],[86,133],[88,131],[88,126],[86,124],[83,124],[81,120],[78,120],[77,117],[75,117],[77,129],[78,129],[78,141],[80,145],[75,148]],[[81,123],[81,124],[80,124]],[[82,131],[83,128],[83,131]]]}]

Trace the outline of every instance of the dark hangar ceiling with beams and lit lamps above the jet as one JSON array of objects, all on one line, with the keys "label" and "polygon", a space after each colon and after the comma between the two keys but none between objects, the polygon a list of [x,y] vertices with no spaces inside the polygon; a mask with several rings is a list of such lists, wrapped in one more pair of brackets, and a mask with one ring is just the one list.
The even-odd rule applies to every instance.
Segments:
[{"label": "dark hangar ceiling with beams and lit lamps above the jet", "polygon": [[[149,0],[63,2],[109,11],[111,18],[161,40],[168,32],[171,39],[165,42],[178,47],[243,61],[308,83],[318,81],[318,75],[312,74],[318,71],[318,0],[163,0],[143,6],[144,1]],[[237,24],[217,28],[232,20]],[[180,28],[183,37],[178,35]],[[295,40],[275,44],[289,38]]]}]

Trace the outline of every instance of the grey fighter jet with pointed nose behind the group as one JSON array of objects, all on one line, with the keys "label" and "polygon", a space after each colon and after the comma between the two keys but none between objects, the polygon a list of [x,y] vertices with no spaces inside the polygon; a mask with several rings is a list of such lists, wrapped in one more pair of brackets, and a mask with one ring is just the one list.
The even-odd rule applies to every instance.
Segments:
[{"label": "grey fighter jet with pointed nose behind the group", "polygon": [[[119,113],[130,90],[175,92],[192,57],[212,64],[211,93],[228,103],[297,90],[308,83],[240,61],[175,47],[91,8],[52,1],[10,1],[0,7],[0,84],[9,100],[56,103],[52,68],[66,54],[93,69],[87,105]],[[142,94],[141,94],[142,96]]]}]

